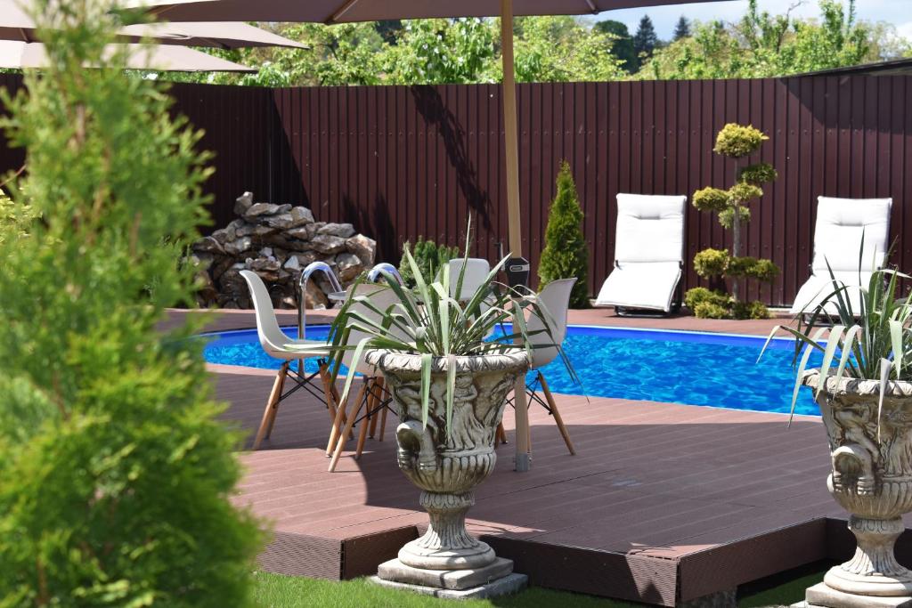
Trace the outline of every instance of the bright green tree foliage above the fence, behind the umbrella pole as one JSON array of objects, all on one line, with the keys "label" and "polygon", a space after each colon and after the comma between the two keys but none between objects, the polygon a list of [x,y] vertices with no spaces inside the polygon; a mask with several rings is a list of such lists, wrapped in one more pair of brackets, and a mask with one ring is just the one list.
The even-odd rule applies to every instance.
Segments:
[{"label": "bright green tree foliage above the fence, behind the umbrella pole", "polygon": [[[280,24],[277,33],[309,46],[203,49],[256,74],[166,75],[184,82],[264,87],[421,85],[499,82],[499,19],[418,19],[377,24]],[[627,76],[613,54],[617,36],[570,16],[515,20],[519,82],[607,80]]]}]

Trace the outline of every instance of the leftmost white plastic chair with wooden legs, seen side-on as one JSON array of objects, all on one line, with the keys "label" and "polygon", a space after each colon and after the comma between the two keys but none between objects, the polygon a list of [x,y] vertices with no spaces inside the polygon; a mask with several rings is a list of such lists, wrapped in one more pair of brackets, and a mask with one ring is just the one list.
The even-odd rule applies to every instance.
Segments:
[{"label": "leftmost white plastic chair with wooden legs, seen side-on", "polygon": [[[336,410],[332,407],[331,400],[326,398],[326,380],[329,377],[326,368],[329,347],[326,345],[326,342],[318,340],[295,340],[285,335],[285,332],[279,327],[278,320],[275,318],[275,308],[273,308],[273,302],[269,297],[269,291],[266,289],[263,279],[261,279],[258,274],[249,270],[241,271],[241,276],[243,276],[244,281],[247,282],[247,286],[250,288],[251,298],[254,301],[256,334],[260,339],[260,345],[263,346],[267,355],[273,356],[276,359],[284,359],[284,363],[279,367],[279,371],[275,375],[275,382],[273,383],[272,392],[269,394],[269,399],[266,401],[260,428],[256,431],[256,438],[254,438],[255,450],[260,447],[264,438],[269,438],[272,434],[273,427],[275,426],[275,417],[279,410],[279,404],[299,388],[305,388],[314,397],[325,400],[326,406],[330,411],[330,419],[335,419]],[[292,361],[299,360],[303,366],[306,359],[316,359],[319,366],[318,371],[310,376],[306,376],[303,368],[296,371],[290,369]],[[283,393],[285,390],[285,379],[288,377],[289,371],[294,375],[295,387]],[[311,382],[316,376],[320,376],[324,383],[323,395],[317,394],[311,386]]]}]

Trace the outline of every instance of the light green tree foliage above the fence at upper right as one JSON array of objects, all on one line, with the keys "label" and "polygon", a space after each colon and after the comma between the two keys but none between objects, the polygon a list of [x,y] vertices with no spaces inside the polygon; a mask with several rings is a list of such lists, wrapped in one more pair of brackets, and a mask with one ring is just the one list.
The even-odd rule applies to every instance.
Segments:
[{"label": "light green tree foliage above the fence at upper right", "polygon": [[737,23],[694,24],[691,36],[658,50],[640,77],[780,77],[886,59],[907,48],[883,25],[859,21],[855,0],[820,0],[820,12],[814,20],[772,15],[750,0]]}]

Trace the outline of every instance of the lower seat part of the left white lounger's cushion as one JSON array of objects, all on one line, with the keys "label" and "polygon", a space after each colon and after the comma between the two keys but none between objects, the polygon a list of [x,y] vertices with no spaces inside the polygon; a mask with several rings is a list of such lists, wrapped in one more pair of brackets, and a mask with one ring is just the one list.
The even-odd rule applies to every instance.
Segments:
[{"label": "lower seat part of the left white lounger's cushion", "polygon": [[680,277],[679,262],[618,263],[602,285],[596,304],[667,313]]}]

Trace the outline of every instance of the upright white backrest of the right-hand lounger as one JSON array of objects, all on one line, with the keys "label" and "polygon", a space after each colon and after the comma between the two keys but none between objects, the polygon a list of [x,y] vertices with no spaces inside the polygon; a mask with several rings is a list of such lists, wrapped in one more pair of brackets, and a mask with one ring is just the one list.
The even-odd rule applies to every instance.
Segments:
[{"label": "upright white backrest of the right-hand lounger", "polygon": [[857,273],[862,234],[865,235],[865,252],[862,254],[861,271],[870,273],[884,265],[893,199],[834,199],[822,196],[817,201],[814,274],[828,277],[827,263],[834,273]]}]

